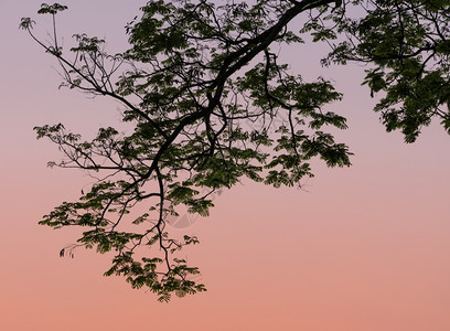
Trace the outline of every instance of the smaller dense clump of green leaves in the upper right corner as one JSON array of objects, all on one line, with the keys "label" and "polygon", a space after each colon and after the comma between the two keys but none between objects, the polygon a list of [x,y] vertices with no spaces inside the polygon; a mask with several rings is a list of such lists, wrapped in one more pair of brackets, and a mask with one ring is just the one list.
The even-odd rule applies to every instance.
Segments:
[{"label": "smaller dense clump of green leaves in the upper right corner", "polygon": [[346,36],[333,44],[325,62],[369,63],[364,84],[372,95],[383,95],[374,110],[387,131],[401,130],[406,142],[414,142],[432,118],[450,134],[450,1],[353,4],[364,9],[364,17],[325,18]]}]

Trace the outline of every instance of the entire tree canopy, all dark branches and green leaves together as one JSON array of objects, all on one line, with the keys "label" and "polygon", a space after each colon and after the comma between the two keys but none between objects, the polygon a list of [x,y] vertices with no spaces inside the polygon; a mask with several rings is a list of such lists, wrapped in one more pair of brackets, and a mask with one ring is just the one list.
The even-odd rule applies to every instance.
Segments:
[{"label": "entire tree canopy, all dark branches and green leaves together", "polygon": [[50,166],[97,179],[40,224],[81,226],[62,256],[78,246],[114,252],[105,275],[125,276],[160,300],[205,290],[192,280],[199,269],[180,257],[199,239],[167,229],[179,205],[207,216],[215,192],[243,178],[293,186],[313,175],[314,158],[351,166],[349,147],[331,134],[346,120],[328,110],[342,94],[323,77],[291,73],[274,49],[311,36],[328,43],[322,65],[367,64],[362,84],[379,96],[374,110],[388,131],[414,142],[435,118],[450,134],[450,1],[152,0],[126,25],[129,49],[120,54],[86,34],[63,49],[56,17],[66,9],[41,6],[52,18],[50,42],[34,34],[31,19],[20,26],[57,60],[63,86],[117,100],[133,130],[105,127],[85,140],[62,124],[36,127],[65,156]]}]

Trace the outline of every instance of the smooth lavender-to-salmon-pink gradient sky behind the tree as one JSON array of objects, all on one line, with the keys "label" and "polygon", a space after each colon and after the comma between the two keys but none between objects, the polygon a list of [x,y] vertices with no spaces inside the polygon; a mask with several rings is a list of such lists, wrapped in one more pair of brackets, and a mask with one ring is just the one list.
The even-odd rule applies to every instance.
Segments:
[{"label": "smooth lavender-to-salmon-pink gradient sky behind the tree", "polygon": [[[144,1],[65,4],[67,44],[87,32],[118,52],[125,24]],[[103,277],[109,256],[81,249],[60,258],[79,232],[38,222],[77,199],[89,179],[47,168],[61,154],[32,128],[61,121],[92,132],[119,111],[106,99],[58,89],[56,64],[18,29],[39,6],[0,2],[0,330],[450,330],[450,137],[436,124],[414,145],[385,132],[360,86],[364,68],[324,71],[304,46],[286,61],[306,76],[332,77],[344,93],[333,109],[349,119],[338,137],[355,153],[353,166],[315,162],[303,190],[244,181],[216,196],[210,217],[172,228],[200,238],[185,254],[207,292],[160,303],[119,277]],[[49,22],[36,21],[45,36]]]}]

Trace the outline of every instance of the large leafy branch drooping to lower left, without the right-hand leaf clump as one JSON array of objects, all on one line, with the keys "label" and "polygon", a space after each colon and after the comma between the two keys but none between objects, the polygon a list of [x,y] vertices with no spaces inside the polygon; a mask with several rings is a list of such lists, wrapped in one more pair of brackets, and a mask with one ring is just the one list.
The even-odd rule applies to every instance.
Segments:
[{"label": "large leafy branch drooping to lower left, without the right-hand leaf clump", "polygon": [[[171,238],[165,229],[178,205],[205,216],[213,193],[243,177],[294,185],[312,175],[313,157],[330,167],[350,166],[347,147],[321,130],[346,128],[344,118],[322,111],[341,95],[325,79],[304,83],[287,74],[269,51],[274,43],[299,42],[288,24],[315,8],[322,14],[331,3],[150,1],[140,21],[127,26],[130,50],[111,56],[103,40],[77,34],[73,60],[56,42],[55,14],[63,7],[44,7],[53,19],[53,44],[40,41],[31,20],[23,20],[22,28],[56,57],[68,87],[118,100],[122,120],[133,125],[128,135],[101,128],[92,141],[62,125],[36,128],[67,158],[52,166],[98,179],[79,201],[57,206],[41,224],[87,227],[75,246],[114,250],[106,275],[147,286],[161,300],[205,290],[190,280],[197,268],[176,255],[196,237]],[[277,117],[282,120],[269,136]],[[143,257],[143,247],[154,257]]]}]

